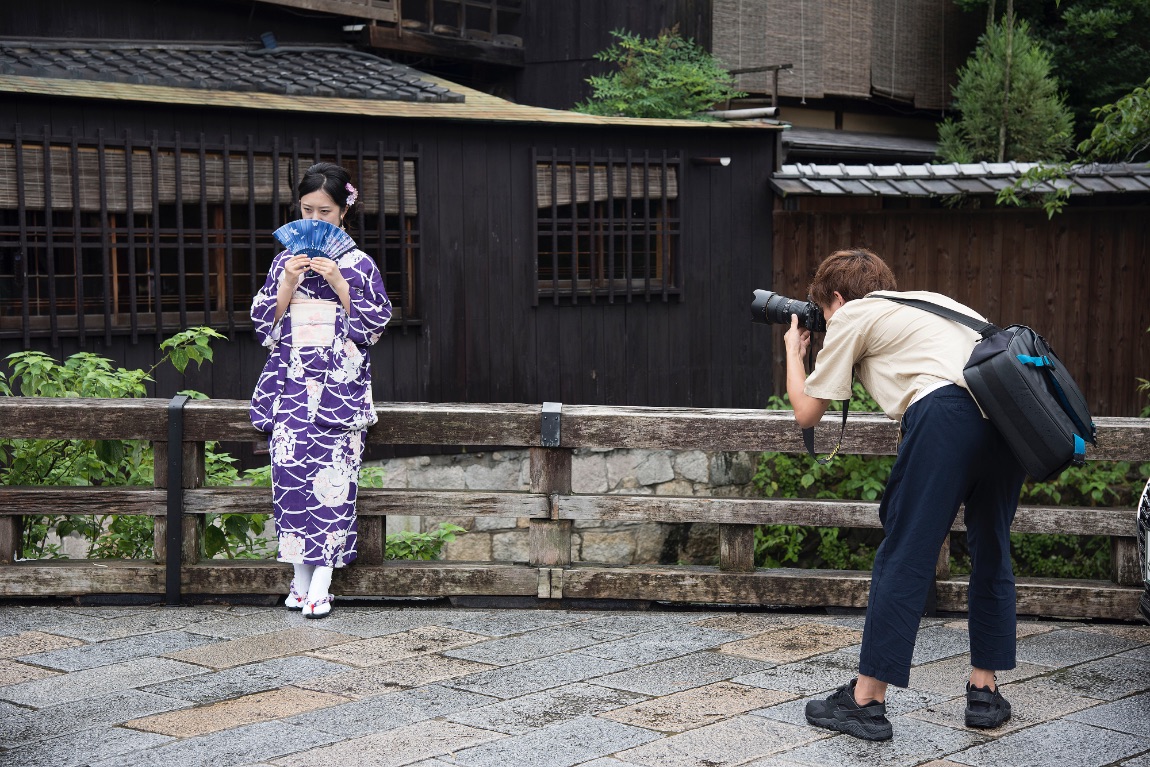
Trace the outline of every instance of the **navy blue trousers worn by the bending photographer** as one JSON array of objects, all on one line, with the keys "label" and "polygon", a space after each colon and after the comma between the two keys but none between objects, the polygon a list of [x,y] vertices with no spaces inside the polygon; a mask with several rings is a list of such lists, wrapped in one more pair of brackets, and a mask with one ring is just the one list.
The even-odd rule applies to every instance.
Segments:
[{"label": "navy blue trousers worn by the bending photographer", "polygon": [[896,687],[911,678],[919,619],[943,539],[966,505],[971,551],[971,665],[1014,668],[1015,597],[1010,526],[1026,474],[961,386],[938,389],[903,415],[903,438],[879,507],[859,673]]}]

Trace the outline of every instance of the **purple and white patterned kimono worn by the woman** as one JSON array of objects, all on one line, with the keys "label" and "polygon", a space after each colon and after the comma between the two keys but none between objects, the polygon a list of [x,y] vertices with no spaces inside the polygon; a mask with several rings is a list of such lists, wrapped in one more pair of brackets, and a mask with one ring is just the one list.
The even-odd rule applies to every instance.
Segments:
[{"label": "purple and white patterned kimono worn by the woman", "polygon": [[[255,335],[269,351],[252,394],[252,424],[271,435],[277,559],[343,567],[355,560],[363,436],[377,419],[367,347],[391,319],[391,301],[371,258],[359,250],[345,253],[337,263],[350,286],[351,314],[343,306],[336,309],[330,345],[293,344],[292,309],[275,322],[277,286],[289,258],[286,251],[275,258],[252,299]],[[339,302],[315,273],[304,277],[292,299]]]}]

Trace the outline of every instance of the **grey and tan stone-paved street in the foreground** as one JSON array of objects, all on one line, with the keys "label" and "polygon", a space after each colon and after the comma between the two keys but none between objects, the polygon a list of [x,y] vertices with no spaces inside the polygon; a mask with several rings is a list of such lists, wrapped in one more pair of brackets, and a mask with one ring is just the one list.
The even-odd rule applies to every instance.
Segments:
[{"label": "grey and tan stone-paved street in the foreground", "polygon": [[0,766],[1150,767],[1150,627],[1019,626],[1014,718],[963,724],[925,619],[889,743],[808,727],[860,614],[0,606]]}]

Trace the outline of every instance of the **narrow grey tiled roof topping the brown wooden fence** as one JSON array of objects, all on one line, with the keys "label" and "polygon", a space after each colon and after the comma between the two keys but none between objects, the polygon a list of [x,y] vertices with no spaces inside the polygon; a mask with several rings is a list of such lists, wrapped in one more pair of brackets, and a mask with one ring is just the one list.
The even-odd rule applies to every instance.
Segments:
[{"label": "narrow grey tiled roof topping the brown wooden fence", "polygon": [[[949,197],[996,194],[1030,168],[1034,162],[976,162],[922,166],[783,166],[770,178],[781,195],[867,194],[881,197]],[[1080,166],[1058,187],[1068,185],[1072,195],[1150,192],[1150,163]],[[1052,192],[1041,184],[1034,192]]]}]

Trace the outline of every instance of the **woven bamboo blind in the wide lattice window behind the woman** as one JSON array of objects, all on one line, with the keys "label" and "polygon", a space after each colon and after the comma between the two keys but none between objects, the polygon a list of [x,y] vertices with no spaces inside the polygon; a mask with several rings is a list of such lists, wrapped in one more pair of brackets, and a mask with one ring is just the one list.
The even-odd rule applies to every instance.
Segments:
[{"label": "woven bamboo blind in the wide lattice window behind the woman", "polygon": [[[26,208],[45,206],[44,190],[44,145],[24,144],[23,154],[23,191]],[[184,202],[199,202],[201,194],[207,202],[224,202],[224,158],[221,152],[204,154],[204,175],[200,176],[199,152],[181,152],[179,154],[179,190]],[[75,162],[71,148],[68,146],[51,146],[51,198],[54,209],[72,208],[72,169],[79,178],[79,209],[100,210],[100,153],[95,147],[79,147]],[[379,209],[379,161],[365,160],[359,171],[360,204],[365,213],[377,213]],[[161,204],[176,202],[176,153],[160,151],[156,153],[158,197]],[[248,168],[248,156],[245,152],[227,154],[228,184],[227,198],[232,204],[246,204],[248,190],[254,193],[255,202],[270,204],[275,193],[273,178],[273,158],[270,154],[254,154]],[[289,175],[291,158],[279,158],[279,204],[293,201],[292,182],[297,182],[312,160],[300,161],[299,168]],[[136,213],[152,210],[152,151],[133,148],[131,153],[132,199],[131,207]],[[250,182],[251,178],[251,182]],[[123,148],[108,147],[103,151],[103,184],[109,212],[128,210],[128,169]],[[0,143],[0,209],[18,207],[20,183],[16,174],[16,149],[12,143]],[[383,161],[383,208],[388,215],[397,215],[399,205],[399,161]],[[402,212],[415,215],[417,194],[415,190],[415,162],[404,161],[402,177]]]}]

